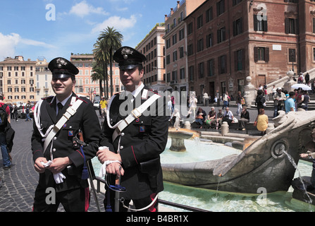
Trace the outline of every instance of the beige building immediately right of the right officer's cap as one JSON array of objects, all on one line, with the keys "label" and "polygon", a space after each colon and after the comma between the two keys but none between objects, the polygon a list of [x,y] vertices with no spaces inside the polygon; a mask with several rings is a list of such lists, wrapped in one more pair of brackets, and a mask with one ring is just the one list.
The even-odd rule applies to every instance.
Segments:
[{"label": "beige building immediately right of the right officer's cap", "polygon": [[144,85],[157,91],[165,90],[165,48],[163,24],[157,23],[135,49],[147,57],[144,62]]}]

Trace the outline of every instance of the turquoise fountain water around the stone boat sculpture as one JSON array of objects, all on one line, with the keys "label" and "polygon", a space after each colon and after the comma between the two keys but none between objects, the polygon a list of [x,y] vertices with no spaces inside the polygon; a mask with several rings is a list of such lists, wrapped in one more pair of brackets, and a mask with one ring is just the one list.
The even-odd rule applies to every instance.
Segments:
[{"label": "turquoise fountain water around the stone boat sculpture", "polygon": [[[185,140],[186,152],[174,153],[169,150],[171,140],[168,140],[166,150],[161,155],[162,163],[185,163],[199,162],[204,160],[215,160],[226,155],[239,154],[240,150],[230,148],[226,145],[209,143],[198,140]],[[100,163],[97,158],[92,160],[95,174],[99,174]],[[311,175],[311,162],[303,160],[297,165],[301,176]],[[295,173],[295,178],[299,177]],[[180,203],[186,206],[193,206],[204,210],[218,212],[283,212],[283,211],[315,211],[315,206],[292,198],[292,187],[285,191],[278,191],[272,194],[235,194],[209,189],[197,189],[190,186],[181,186],[165,182],[164,191],[159,198]],[[169,208],[169,207],[168,207]],[[179,209],[175,209],[179,210]],[[179,210],[182,211],[182,210]]]}]

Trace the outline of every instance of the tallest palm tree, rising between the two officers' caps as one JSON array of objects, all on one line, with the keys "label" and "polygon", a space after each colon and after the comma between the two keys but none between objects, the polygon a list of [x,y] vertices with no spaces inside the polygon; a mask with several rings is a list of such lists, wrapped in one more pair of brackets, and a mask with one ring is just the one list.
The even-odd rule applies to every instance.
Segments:
[{"label": "tallest palm tree, rising between the two officers' caps", "polygon": [[109,66],[110,66],[110,78],[111,78],[111,96],[113,96],[113,52],[121,47],[121,42],[123,42],[123,35],[116,31],[114,28],[107,27],[106,30],[102,31],[98,37],[99,47],[102,52],[109,53]]}]

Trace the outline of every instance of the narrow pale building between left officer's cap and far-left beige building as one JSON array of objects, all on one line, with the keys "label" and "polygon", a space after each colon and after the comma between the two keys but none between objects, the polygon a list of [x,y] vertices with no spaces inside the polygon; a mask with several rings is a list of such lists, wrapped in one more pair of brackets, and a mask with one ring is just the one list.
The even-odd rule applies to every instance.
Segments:
[{"label": "narrow pale building between left officer's cap and far-left beige building", "polygon": [[48,69],[46,59],[37,59],[35,65],[35,100],[40,100],[42,97],[54,95],[51,88],[51,71]]}]

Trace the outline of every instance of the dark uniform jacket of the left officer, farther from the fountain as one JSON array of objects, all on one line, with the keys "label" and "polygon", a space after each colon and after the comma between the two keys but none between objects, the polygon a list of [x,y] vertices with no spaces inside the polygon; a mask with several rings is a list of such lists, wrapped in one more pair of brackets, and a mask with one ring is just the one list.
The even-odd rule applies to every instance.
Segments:
[{"label": "dark uniform jacket of the left officer, farther from the fountain", "polygon": [[[72,97],[77,97],[74,93]],[[72,97],[66,102],[66,105],[62,108],[62,113],[66,112],[70,106]],[[54,98],[54,100],[53,100]],[[53,100],[53,101],[52,101]],[[101,127],[99,125],[99,119],[95,113],[92,102],[86,98],[80,97],[83,100],[77,112],[70,117],[66,124],[56,133],[56,136],[52,139],[51,143],[47,147],[46,152],[43,152],[44,141],[39,133],[34,120],[34,131],[32,134],[32,153],[33,160],[37,157],[46,157],[47,160],[51,160],[50,150],[54,159],[57,157],[69,157],[73,162],[70,167],[63,169],[62,173],[66,179],[63,179],[63,183],[55,184],[53,174],[46,169],[44,173],[39,174],[39,186],[42,187],[55,187],[56,191],[66,191],[69,189],[75,189],[80,186],[87,187],[87,180],[82,180],[82,167],[84,164],[84,157],[80,151],[80,148],[75,150],[73,148],[73,136],[75,136],[79,129],[82,130],[85,143],[88,145],[83,148],[86,160],[92,159],[98,150],[99,136],[101,134]],[[52,102],[51,102],[52,101]],[[40,111],[40,126],[42,126],[43,133],[46,133],[49,126],[58,122],[56,116],[56,97],[47,97],[42,102],[40,110],[37,110],[37,114]]]}]

